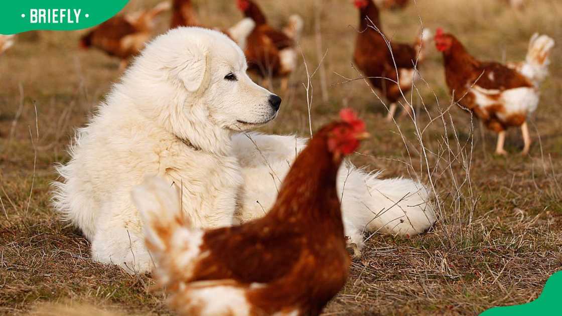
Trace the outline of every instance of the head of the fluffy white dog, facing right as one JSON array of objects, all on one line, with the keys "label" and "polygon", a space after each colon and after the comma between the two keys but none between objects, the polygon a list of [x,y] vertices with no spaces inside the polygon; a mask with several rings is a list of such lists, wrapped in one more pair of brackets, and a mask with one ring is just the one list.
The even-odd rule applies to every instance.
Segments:
[{"label": "head of the fluffy white dog, facing right", "polygon": [[190,134],[186,125],[239,131],[273,120],[281,103],[246,69],[244,53],[226,35],[177,28],[148,44],[123,84],[137,86],[144,112],[170,117],[176,134]]}]

